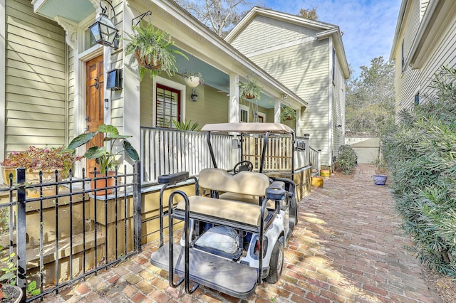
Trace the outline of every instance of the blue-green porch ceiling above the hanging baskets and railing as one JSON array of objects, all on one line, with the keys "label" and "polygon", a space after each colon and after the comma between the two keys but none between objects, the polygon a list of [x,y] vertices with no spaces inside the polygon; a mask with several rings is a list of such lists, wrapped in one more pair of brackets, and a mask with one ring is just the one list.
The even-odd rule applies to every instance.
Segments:
[{"label": "blue-green porch ceiling above the hanging baskets and railing", "polygon": [[[180,74],[184,73],[185,70],[188,72],[196,72],[202,74],[202,78],[204,79],[204,84],[209,85],[210,87],[214,87],[220,92],[229,93],[229,75],[227,73],[222,72],[214,66],[205,63],[204,61],[192,56],[190,53],[187,53],[185,50],[181,50],[182,53],[185,53],[189,60],[186,60],[181,55],[176,56],[176,66],[179,69]],[[242,81],[242,79],[241,79]],[[274,100],[261,93],[261,99],[254,101],[258,106],[271,109],[274,108]]]}]

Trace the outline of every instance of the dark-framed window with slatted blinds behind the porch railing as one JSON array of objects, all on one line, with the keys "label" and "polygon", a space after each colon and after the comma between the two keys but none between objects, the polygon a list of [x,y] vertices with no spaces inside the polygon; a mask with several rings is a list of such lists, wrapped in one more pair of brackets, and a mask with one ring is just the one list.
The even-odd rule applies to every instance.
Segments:
[{"label": "dark-framed window with slatted blinds behind the porch railing", "polygon": [[172,120],[180,121],[180,90],[157,83],[156,93],[156,127],[175,128]]}]

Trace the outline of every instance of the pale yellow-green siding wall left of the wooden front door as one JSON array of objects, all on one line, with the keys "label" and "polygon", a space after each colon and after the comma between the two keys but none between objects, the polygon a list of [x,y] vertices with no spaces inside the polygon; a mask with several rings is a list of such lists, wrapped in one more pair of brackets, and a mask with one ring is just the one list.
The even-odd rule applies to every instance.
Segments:
[{"label": "pale yellow-green siding wall left of the wooden front door", "polygon": [[6,0],[6,152],[65,144],[65,51],[61,26]]}]

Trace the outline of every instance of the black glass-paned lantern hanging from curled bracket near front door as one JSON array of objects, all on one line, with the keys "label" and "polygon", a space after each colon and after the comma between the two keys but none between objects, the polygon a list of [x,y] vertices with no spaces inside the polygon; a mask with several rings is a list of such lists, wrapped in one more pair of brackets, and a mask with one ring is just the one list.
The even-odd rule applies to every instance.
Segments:
[{"label": "black glass-paned lantern hanging from curled bracket near front door", "polygon": [[[106,14],[108,6],[101,5],[103,1],[109,4],[111,9],[113,10],[114,23]],[[102,44],[103,46],[111,46],[113,48],[118,48],[118,29],[116,28],[117,19],[115,18],[113,4],[110,4],[109,1],[101,0],[100,7],[100,16],[98,16],[98,18],[95,19],[95,23],[88,27],[90,29],[90,33],[92,33],[93,38],[95,38],[95,43]]]}]

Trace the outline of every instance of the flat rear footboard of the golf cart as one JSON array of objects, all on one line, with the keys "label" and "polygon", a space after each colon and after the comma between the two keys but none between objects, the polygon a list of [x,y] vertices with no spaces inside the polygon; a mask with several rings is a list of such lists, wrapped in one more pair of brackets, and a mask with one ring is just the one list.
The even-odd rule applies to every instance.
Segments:
[{"label": "flat rear footboard of the golf cart", "polygon": [[[179,277],[185,275],[185,249],[174,244],[174,272]],[[169,246],[163,245],[150,256],[152,265],[169,271]],[[211,255],[190,248],[190,281],[224,292],[233,297],[247,298],[255,292],[257,269],[249,265]]]}]

